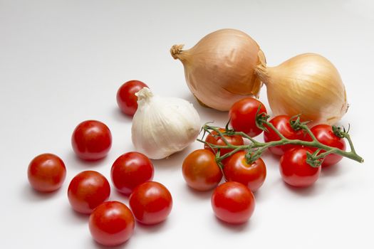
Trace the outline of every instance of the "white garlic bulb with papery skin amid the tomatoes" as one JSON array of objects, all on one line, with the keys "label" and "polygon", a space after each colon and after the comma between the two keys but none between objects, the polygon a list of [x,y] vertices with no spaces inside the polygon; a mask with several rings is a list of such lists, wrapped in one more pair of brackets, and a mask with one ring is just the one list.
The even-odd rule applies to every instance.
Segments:
[{"label": "white garlic bulb with papery skin amid the tomatoes", "polygon": [[159,97],[149,88],[137,95],[131,135],[135,149],[151,159],[162,159],[185,149],[200,131],[193,105],[177,97]]}]

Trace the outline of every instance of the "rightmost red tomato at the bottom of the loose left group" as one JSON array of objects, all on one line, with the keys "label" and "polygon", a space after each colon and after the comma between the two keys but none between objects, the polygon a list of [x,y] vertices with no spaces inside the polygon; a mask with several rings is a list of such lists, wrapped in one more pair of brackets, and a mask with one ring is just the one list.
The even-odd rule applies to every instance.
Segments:
[{"label": "rightmost red tomato at the bottom of the loose left group", "polygon": [[155,181],[137,186],[129,203],[136,220],[146,225],[165,221],[172,211],[172,195],[164,185]]}]

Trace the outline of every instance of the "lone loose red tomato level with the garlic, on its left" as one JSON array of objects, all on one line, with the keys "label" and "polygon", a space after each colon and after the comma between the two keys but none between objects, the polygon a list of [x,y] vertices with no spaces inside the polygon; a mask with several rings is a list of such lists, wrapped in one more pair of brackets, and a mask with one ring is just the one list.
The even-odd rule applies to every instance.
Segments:
[{"label": "lone loose red tomato level with the garlic, on its left", "polygon": [[112,134],[103,122],[86,120],[74,129],[71,145],[80,159],[102,159],[112,147]]}]

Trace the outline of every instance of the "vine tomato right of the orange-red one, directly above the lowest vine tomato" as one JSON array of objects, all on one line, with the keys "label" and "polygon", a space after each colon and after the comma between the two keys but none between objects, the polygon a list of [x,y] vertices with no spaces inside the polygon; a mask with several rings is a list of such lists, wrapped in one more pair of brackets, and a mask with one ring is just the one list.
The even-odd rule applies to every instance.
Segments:
[{"label": "vine tomato right of the orange-red one, directly above the lowest vine tomato", "polygon": [[256,191],[266,178],[266,166],[261,158],[248,164],[245,159],[246,152],[233,154],[224,163],[224,177],[226,181],[237,181],[247,186],[251,191]]}]

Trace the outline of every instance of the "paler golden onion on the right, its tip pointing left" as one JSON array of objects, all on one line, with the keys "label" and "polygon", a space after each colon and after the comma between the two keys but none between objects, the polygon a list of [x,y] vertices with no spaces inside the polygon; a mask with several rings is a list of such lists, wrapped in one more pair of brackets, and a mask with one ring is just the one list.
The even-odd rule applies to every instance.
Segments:
[{"label": "paler golden onion on the right, its tip pointing left", "polygon": [[310,125],[334,124],[347,112],[346,88],[334,65],[316,53],[304,53],[256,73],[266,84],[274,115],[298,115]]}]

